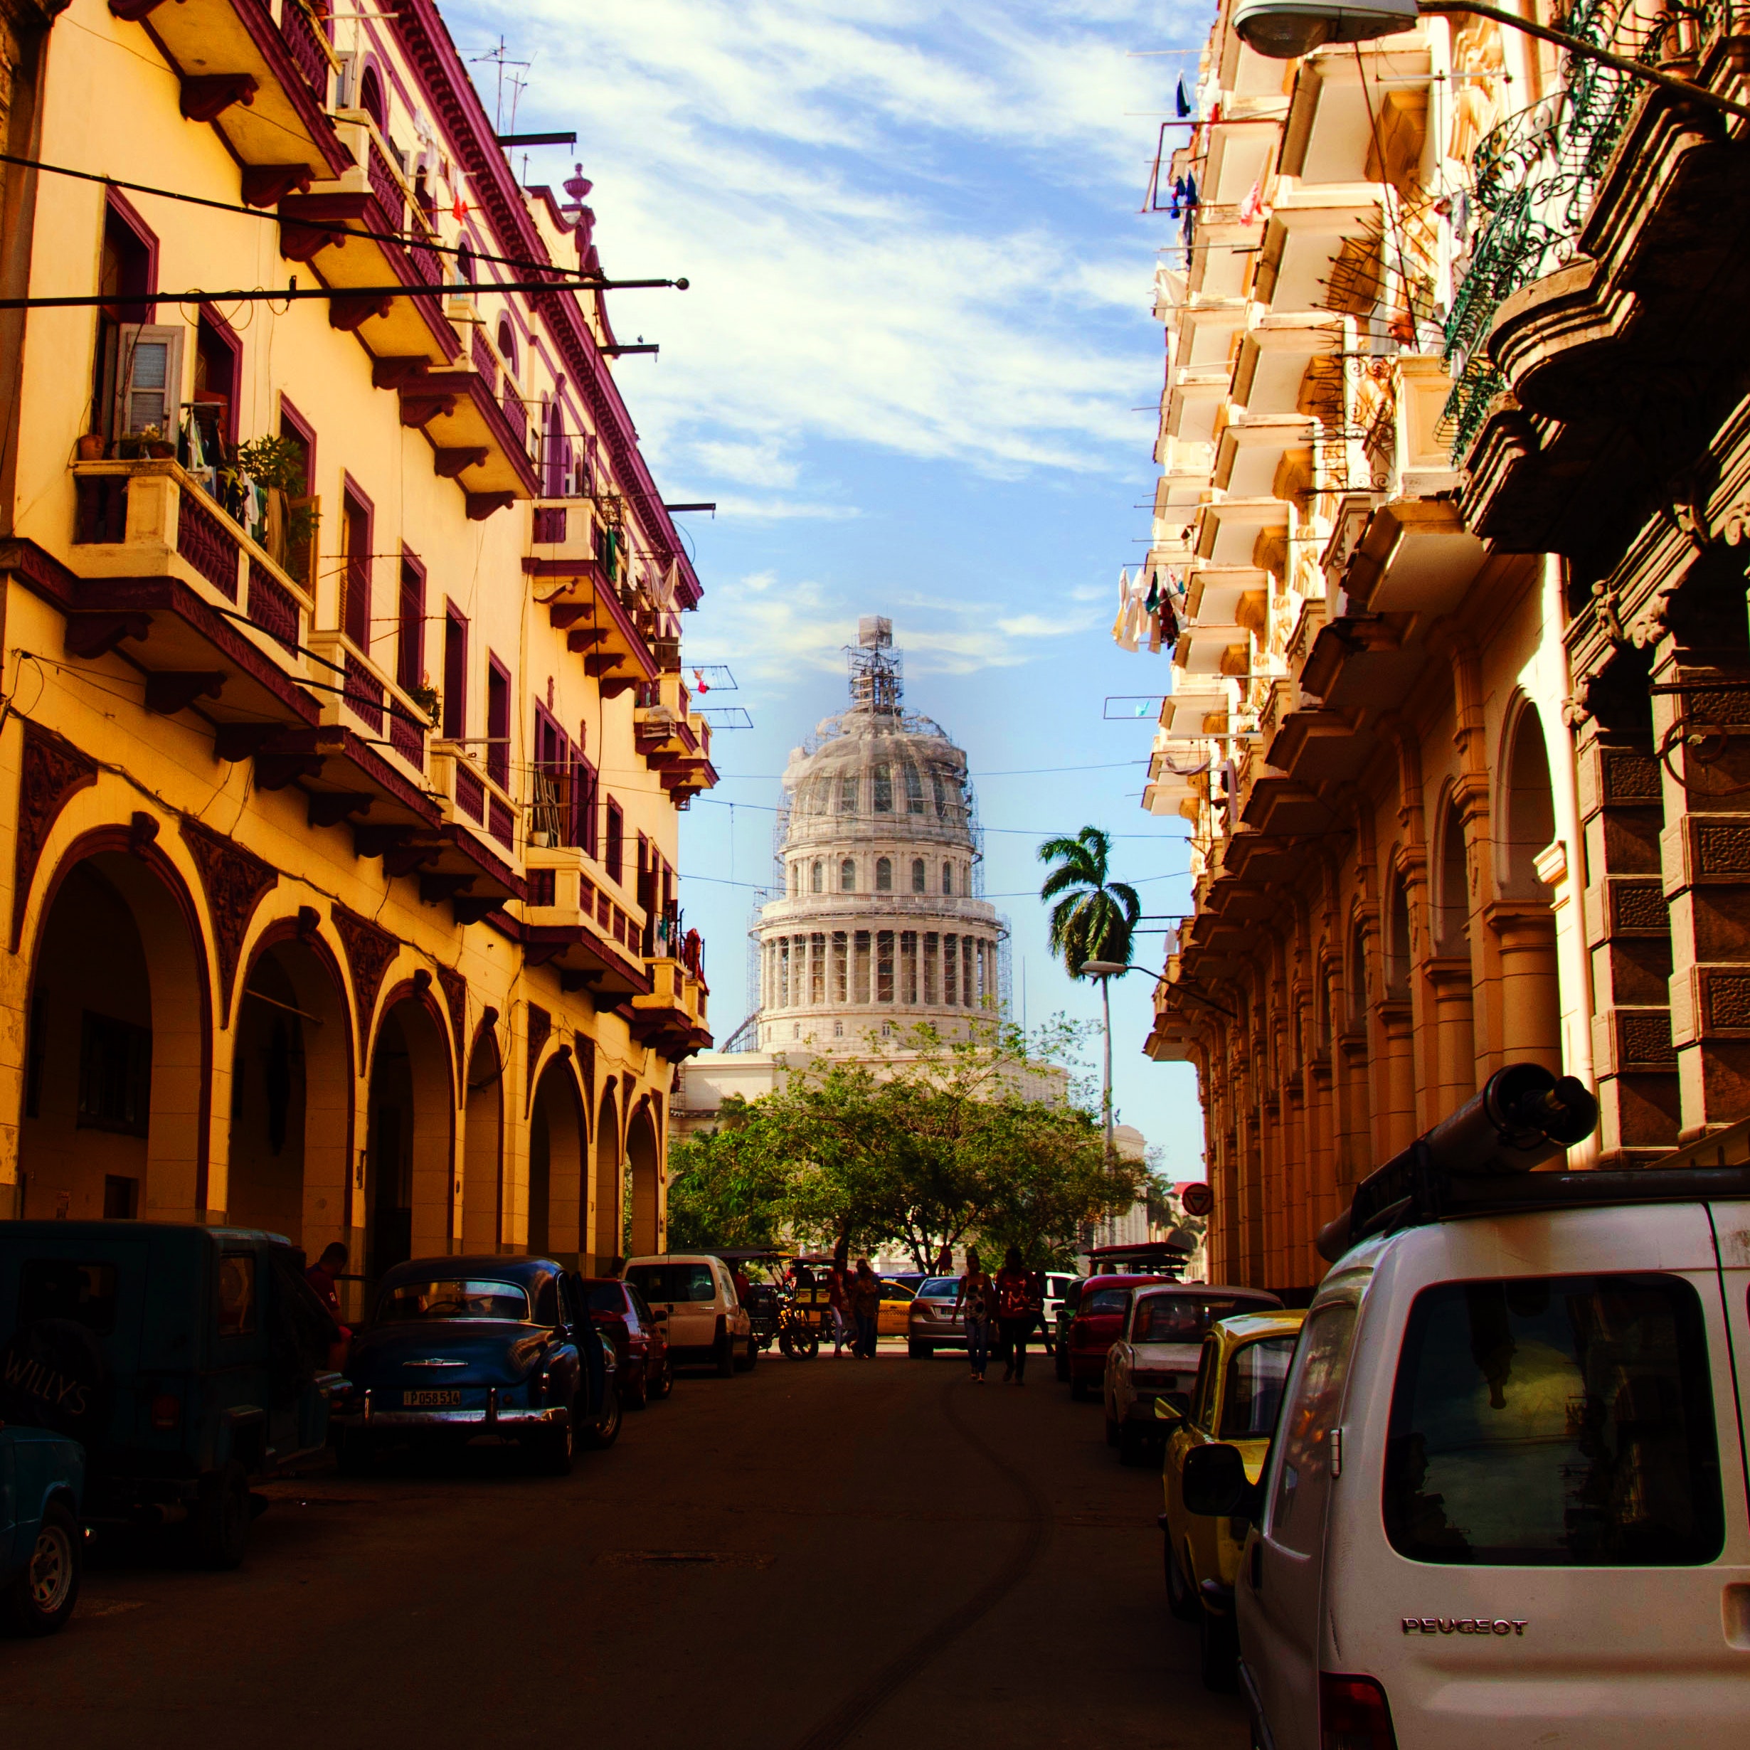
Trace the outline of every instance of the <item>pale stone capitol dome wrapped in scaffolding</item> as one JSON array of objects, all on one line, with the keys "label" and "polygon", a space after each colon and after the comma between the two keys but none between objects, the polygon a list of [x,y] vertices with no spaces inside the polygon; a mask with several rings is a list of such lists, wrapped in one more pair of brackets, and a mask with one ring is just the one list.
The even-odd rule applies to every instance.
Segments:
[{"label": "pale stone capitol dome wrapped in scaffolding", "polygon": [[1008,926],[978,896],[966,754],[901,707],[892,623],[861,623],[850,709],[789,756],[760,912],[761,1048],[858,1050],[931,1022],[964,1034],[1006,998]]}]

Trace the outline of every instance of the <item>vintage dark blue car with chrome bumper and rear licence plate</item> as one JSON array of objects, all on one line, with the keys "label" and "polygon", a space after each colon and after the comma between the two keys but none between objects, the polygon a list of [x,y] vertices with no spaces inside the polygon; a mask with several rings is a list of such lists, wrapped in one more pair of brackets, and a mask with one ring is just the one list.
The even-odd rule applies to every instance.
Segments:
[{"label": "vintage dark blue car with chrome bumper and rear licence plate", "polygon": [[387,1446],[520,1442],[570,1470],[578,1442],[620,1433],[614,1349],[551,1258],[413,1258],[378,1284],[336,1405],[340,1461],[368,1470]]}]

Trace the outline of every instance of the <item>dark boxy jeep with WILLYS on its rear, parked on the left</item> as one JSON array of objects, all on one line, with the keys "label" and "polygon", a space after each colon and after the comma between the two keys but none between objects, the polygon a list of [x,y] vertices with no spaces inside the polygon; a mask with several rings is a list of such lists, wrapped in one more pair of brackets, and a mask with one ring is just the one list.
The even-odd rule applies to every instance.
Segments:
[{"label": "dark boxy jeep with WILLYS on its rear, parked on the left", "polygon": [[324,1449],[341,1384],[303,1267],[250,1228],[0,1222],[0,1421],[79,1440],[88,1519],[234,1568],[250,1482]]}]

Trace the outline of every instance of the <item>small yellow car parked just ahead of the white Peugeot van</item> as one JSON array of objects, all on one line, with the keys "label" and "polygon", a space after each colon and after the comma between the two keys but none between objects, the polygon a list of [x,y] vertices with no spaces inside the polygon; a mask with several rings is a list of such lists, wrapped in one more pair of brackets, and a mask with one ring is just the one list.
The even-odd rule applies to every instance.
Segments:
[{"label": "small yellow car parked just ahead of the white Peugeot van", "polygon": [[1199,1446],[1237,1446],[1246,1477],[1256,1482],[1283,1400],[1288,1363],[1306,1312],[1246,1312],[1213,1325],[1204,1337],[1190,1409],[1157,1398],[1155,1416],[1169,1424],[1160,1484],[1167,1510],[1167,1605],[1181,1622],[1195,1622],[1202,1638],[1202,1680],[1209,1689],[1237,1685],[1234,1580],[1244,1519],[1209,1519],[1185,1510],[1185,1454]]}]

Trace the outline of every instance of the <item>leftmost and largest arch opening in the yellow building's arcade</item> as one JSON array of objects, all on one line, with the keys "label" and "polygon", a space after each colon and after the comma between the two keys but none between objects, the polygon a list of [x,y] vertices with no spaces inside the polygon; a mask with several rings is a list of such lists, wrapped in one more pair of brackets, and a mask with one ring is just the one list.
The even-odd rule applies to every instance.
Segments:
[{"label": "leftmost and largest arch opening in the yellow building's arcade", "polygon": [[214,998],[191,884],[138,824],[82,833],[30,964],[21,1213],[205,1220]]}]

